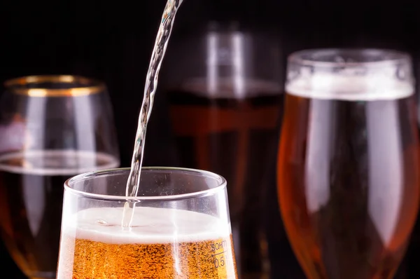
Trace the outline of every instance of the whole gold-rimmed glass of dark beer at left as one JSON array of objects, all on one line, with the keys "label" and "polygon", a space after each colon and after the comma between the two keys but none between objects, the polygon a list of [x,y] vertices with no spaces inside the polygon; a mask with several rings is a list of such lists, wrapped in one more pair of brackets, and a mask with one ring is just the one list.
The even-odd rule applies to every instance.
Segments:
[{"label": "whole gold-rimmed glass of dark beer at left", "polygon": [[103,83],[78,76],[7,81],[0,100],[0,233],[29,278],[55,278],[62,184],[119,165]]}]

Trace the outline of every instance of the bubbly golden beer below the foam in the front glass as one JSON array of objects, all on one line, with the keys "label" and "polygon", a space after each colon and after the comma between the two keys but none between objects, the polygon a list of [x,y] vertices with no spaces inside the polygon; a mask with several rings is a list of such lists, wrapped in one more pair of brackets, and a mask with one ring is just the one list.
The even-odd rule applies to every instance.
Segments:
[{"label": "bubbly golden beer below the foam in the front glass", "polygon": [[232,236],[153,244],[62,238],[58,279],[237,279]]}]

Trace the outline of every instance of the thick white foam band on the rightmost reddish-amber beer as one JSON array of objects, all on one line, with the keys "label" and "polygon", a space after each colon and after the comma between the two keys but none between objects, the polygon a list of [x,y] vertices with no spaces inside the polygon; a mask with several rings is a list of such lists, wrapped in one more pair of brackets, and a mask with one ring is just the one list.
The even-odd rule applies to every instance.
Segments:
[{"label": "thick white foam band on the rightmost reddish-amber beer", "polygon": [[357,76],[323,72],[302,75],[289,81],[286,92],[328,100],[395,100],[413,95],[414,86],[411,81],[397,80],[388,74]]}]

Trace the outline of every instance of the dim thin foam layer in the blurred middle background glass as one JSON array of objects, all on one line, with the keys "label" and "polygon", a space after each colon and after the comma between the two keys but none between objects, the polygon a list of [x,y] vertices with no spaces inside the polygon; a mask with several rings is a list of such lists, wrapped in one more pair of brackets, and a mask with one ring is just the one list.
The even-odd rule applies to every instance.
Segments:
[{"label": "dim thin foam layer in the blurred middle background glass", "polygon": [[241,99],[258,96],[272,96],[283,93],[283,88],[272,81],[258,79],[219,78],[190,79],[183,83],[182,90],[207,98]]}]

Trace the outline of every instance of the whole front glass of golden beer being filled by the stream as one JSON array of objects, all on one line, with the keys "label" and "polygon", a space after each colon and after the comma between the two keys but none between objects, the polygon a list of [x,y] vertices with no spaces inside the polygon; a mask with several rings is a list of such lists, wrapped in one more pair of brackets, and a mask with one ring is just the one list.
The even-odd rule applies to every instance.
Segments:
[{"label": "whole front glass of golden beer being filled by the stream", "polygon": [[[237,278],[226,181],[201,170],[144,168],[79,175],[64,185],[57,279]],[[125,202],[137,203],[123,228]]]}]

